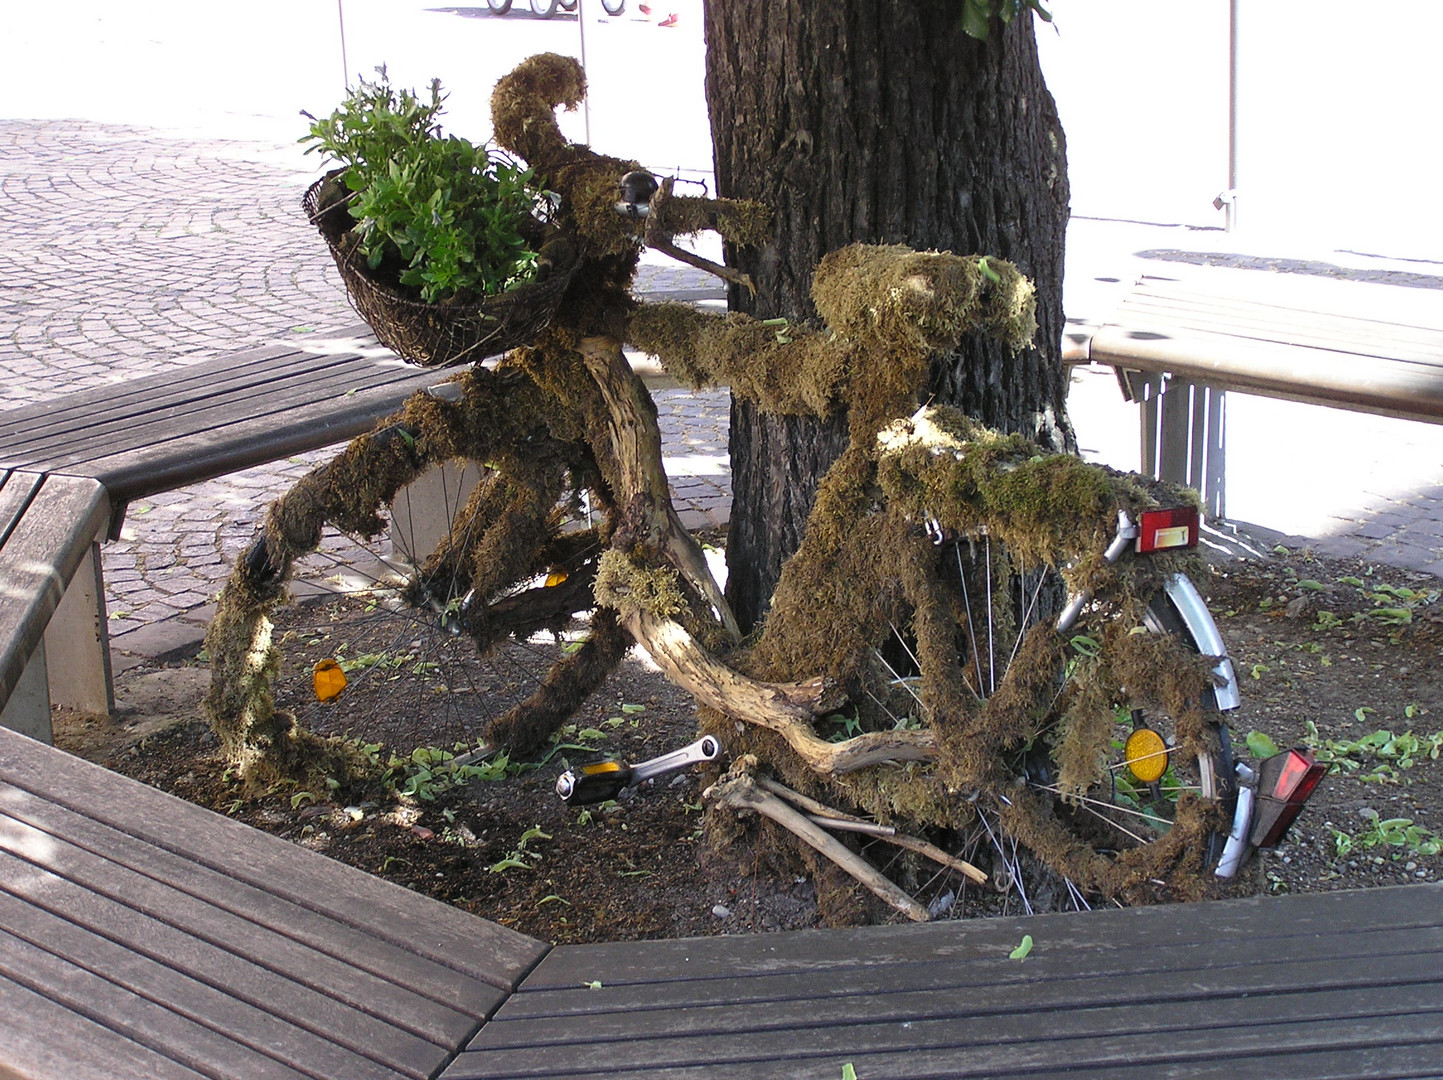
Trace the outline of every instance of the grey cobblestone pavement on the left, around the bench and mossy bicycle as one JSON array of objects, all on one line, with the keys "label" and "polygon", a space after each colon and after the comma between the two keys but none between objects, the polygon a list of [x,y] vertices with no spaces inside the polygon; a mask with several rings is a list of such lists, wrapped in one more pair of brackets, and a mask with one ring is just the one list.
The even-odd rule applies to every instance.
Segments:
[{"label": "grey cobblestone pavement on the left, around the bench and mossy bicycle", "polygon": [[[0,121],[0,409],[356,322],[300,214],[303,165],[286,147]],[[638,274],[652,295],[709,286],[681,266]],[[724,523],[726,391],[655,397],[683,520]],[[267,504],[333,450],[131,504],[104,549],[117,650],[193,637]],[[177,617],[190,627],[154,630]]]}]

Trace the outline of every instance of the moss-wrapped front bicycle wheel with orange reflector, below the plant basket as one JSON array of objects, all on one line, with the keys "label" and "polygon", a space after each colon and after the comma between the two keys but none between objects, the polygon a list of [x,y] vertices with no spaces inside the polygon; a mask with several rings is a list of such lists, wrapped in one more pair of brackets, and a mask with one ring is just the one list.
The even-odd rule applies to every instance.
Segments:
[{"label": "moss-wrapped front bicycle wheel with orange reflector, below the plant basket", "polygon": [[535,430],[524,450],[547,468],[506,453],[457,466],[413,419],[447,411],[469,420],[408,406],[271,507],[208,635],[208,712],[232,759],[296,729],[403,755],[482,739],[528,752],[625,654],[615,617],[589,611],[610,515],[586,494],[584,448]]}]

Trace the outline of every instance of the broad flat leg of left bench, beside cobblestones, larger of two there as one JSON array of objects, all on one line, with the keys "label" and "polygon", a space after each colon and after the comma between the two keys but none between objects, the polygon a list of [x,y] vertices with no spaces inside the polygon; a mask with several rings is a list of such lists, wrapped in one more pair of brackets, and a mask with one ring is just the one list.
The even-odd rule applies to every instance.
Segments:
[{"label": "broad flat leg of left bench, beside cobblestones, larger of two there", "polygon": [[51,617],[45,628],[45,653],[55,676],[52,705],[92,715],[114,712],[100,543],[89,546]]}]

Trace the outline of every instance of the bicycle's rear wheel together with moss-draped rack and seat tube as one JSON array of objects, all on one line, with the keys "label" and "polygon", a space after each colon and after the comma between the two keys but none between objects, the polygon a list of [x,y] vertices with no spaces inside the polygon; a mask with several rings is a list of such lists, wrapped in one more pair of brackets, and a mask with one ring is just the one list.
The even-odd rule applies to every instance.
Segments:
[{"label": "bicycle's rear wheel together with moss-draped rack and seat tube", "polygon": [[[814,723],[838,744],[833,762],[876,761],[863,758],[870,745],[931,758],[854,780],[833,768],[840,797],[882,820],[981,837],[1013,872],[1004,840],[1022,843],[1078,897],[1196,892],[1228,824],[1211,687],[1231,666],[1179,573],[1186,556],[1126,556],[1136,531],[1118,517],[1169,492],[954,426],[899,436],[880,459],[838,459],[749,670],[821,674],[846,693]],[[926,508],[934,497],[945,526]],[[1095,595],[1069,604],[1055,566]]]}]

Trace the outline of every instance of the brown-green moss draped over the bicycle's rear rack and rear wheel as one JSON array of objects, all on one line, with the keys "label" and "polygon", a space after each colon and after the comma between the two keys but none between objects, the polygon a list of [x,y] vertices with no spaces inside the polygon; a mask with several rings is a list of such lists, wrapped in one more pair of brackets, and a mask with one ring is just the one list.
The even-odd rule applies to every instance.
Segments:
[{"label": "brown-green moss draped over the bicycle's rear rack and rear wheel", "polygon": [[[1157,879],[1192,895],[1203,888],[1195,843],[1208,827],[1203,804],[1185,801],[1172,833],[1111,858],[1095,853],[1088,829],[1079,827],[1087,822],[1071,822],[1065,803],[1016,798],[1013,791],[1016,758],[1039,739],[1056,742],[1065,791],[1095,787],[1124,687],[1130,703],[1173,718],[1185,755],[1215,749],[1215,728],[1201,707],[1211,660],[1175,638],[1131,632],[1141,624],[1144,599],[1180,562],[1108,567],[1101,560],[1120,508],[1136,515],[1177,494],[1042,453],[945,409],[890,424],[870,446],[854,443],[823,478],[802,547],[784,567],[762,632],[737,664],[776,681],[820,671],[851,694],[851,722],[863,729],[890,726],[896,718],[922,722],[938,742],[938,758],[929,767],[873,767],[821,783],[798,775],[805,768],[771,733],[729,732],[727,745],[740,738],[789,785],[911,827],[958,827],[971,814],[964,796],[1006,796],[1019,807],[1009,811],[1017,839],[1074,881],[1141,898]],[[1009,580],[1038,567],[1062,569],[1074,588],[1108,596],[1114,618],[1097,631],[1105,634],[1100,656],[1063,687],[1071,647],[1042,621],[1022,637],[1013,663],[999,658],[1004,674],[981,693],[967,651],[973,628],[961,579],[939,576],[928,521],[954,534],[990,537],[991,576],[983,566],[968,572],[975,573],[968,578],[973,602],[991,591],[996,609],[1012,614],[1016,585],[1009,592]],[[895,634],[911,640],[911,654],[887,661],[879,648]],[[1010,641],[1012,631],[1000,637]],[[912,697],[896,689],[887,664],[915,661],[922,677]],[[1150,689],[1156,700],[1137,687]],[[1128,846],[1124,836],[1107,843]]]}]

